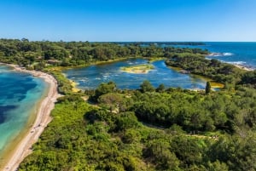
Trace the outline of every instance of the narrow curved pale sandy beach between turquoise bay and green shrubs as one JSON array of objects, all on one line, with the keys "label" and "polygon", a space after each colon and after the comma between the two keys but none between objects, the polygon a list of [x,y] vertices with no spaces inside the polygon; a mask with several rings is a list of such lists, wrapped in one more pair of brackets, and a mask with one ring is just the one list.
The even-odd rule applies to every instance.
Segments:
[{"label": "narrow curved pale sandy beach between turquoise bay and green shrubs", "polygon": [[[6,65],[6,64],[5,64]],[[50,111],[54,109],[55,101],[60,96],[57,92],[57,82],[54,77],[41,71],[28,71],[15,65],[7,65],[14,68],[15,71],[26,72],[34,77],[41,77],[46,83],[49,83],[47,96],[38,106],[38,113],[32,128],[29,128],[24,137],[21,138],[18,145],[4,159],[5,163],[0,170],[14,171],[25,157],[32,153],[32,145],[37,142],[39,136],[43,133],[44,128],[51,121]]]}]

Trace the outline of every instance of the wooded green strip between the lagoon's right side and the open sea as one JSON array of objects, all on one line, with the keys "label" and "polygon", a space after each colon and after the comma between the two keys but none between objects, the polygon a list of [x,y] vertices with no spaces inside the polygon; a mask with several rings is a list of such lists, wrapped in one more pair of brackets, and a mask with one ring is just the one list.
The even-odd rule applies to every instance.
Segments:
[{"label": "wooded green strip between the lagoon's right side and the open sea", "polygon": [[256,88],[256,71],[244,71],[218,60],[207,60],[202,54],[172,54],[166,60],[166,65],[181,68],[187,73],[212,78],[214,82],[224,83],[226,89],[239,86]]}]

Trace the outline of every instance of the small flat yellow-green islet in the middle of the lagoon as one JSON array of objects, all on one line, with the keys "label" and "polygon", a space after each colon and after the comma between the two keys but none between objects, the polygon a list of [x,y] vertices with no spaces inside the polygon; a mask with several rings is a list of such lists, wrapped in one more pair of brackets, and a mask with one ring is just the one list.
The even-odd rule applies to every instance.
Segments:
[{"label": "small flat yellow-green islet in the middle of the lagoon", "polygon": [[151,64],[142,64],[138,66],[124,66],[120,68],[121,71],[125,71],[128,73],[134,73],[134,74],[147,74],[148,71],[151,71],[154,69],[154,66]]}]

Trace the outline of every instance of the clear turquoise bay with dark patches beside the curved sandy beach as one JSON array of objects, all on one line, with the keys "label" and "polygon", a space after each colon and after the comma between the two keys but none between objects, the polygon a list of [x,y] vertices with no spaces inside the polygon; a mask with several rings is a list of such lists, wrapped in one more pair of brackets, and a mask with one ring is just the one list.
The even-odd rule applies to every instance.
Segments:
[{"label": "clear turquoise bay with dark patches beside the curved sandy beach", "polygon": [[0,156],[25,128],[48,84],[43,79],[0,66]]}]

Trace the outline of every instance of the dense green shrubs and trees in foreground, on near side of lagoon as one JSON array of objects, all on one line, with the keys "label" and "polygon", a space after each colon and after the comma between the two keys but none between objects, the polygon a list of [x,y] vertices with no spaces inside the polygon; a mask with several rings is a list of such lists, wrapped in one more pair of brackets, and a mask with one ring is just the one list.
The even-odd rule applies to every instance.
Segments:
[{"label": "dense green shrubs and trees in foreground, on near side of lagoon", "polygon": [[22,170],[254,170],[256,92],[102,83],[61,97]]}]

